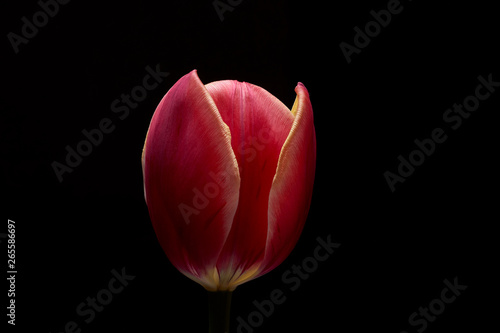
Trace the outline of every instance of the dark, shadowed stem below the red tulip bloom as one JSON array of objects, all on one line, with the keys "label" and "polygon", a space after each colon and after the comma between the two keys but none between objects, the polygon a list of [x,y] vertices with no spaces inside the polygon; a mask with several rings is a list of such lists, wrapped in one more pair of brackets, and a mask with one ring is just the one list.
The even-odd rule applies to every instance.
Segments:
[{"label": "dark, shadowed stem below the red tulip bloom", "polygon": [[209,333],[229,333],[231,291],[208,292]]}]

